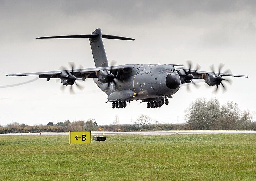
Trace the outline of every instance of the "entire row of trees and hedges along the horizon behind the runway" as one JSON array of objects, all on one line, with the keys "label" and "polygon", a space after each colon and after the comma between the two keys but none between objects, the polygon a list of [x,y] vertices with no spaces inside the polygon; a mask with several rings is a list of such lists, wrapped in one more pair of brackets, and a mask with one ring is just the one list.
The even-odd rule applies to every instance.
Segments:
[{"label": "entire row of trees and hedges along the horizon behind the runway", "polygon": [[148,115],[141,114],[133,124],[119,124],[118,115],[110,125],[98,125],[94,119],[87,121],[65,120],[54,124],[28,126],[14,122],[6,127],[0,125],[0,133],[34,133],[67,131],[138,131],[138,130],[256,130],[253,121],[254,112],[240,110],[233,101],[220,105],[216,98],[197,98],[185,110],[186,123],[159,124],[152,123]]}]

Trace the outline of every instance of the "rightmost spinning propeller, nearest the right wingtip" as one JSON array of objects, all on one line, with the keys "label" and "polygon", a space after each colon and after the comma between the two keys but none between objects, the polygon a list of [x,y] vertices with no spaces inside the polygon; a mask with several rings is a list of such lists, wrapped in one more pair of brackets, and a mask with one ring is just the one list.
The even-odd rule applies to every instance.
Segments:
[{"label": "rightmost spinning propeller, nearest the right wingtip", "polygon": [[216,73],[216,72],[214,71],[214,65],[212,64],[212,65],[210,66],[210,69],[211,69],[212,73],[215,75],[214,84],[217,85],[216,90],[215,90],[213,93],[217,93],[217,90],[218,90],[218,88],[219,88],[219,85],[222,85],[222,87],[223,87],[223,92],[226,92],[226,91],[227,91],[227,89],[226,89],[226,87],[224,86],[224,84],[222,83],[222,81],[227,81],[230,85],[232,85],[232,80],[226,79],[226,78],[223,79],[223,77],[222,77],[222,76],[225,76],[226,74],[231,74],[231,70],[228,69],[228,70],[226,70],[224,73],[220,73],[223,67],[224,67],[224,64],[220,63],[220,65],[219,65],[219,73]]}]

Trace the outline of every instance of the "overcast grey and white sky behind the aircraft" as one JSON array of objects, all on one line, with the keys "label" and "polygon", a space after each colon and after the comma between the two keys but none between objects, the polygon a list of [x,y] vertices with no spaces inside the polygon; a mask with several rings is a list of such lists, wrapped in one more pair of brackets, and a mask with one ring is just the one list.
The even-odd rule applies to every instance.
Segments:
[{"label": "overcast grey and white sky behind the aircraft", "polygon": [[[239,108],[256,110],[256,2],[255,1],[11,1],[0,0],[0,125],[28,125],[87,120],[110,124],[117,114],[129,124],[140,114],[154,121],[185,122],[184,109],[196,98],[216,97],[221,104],[234,101]],[[227,92],[212,94],[215,87],[200,83],[197,90],[186,87],[173,95],[169,105],[147,109],[132,101],[124,109],[112,109],[107,95],[93,80],[85,89],[70,95],[61,83],[35,76],[7,77],[5,74],[58,70],[68,62],[95,67],[88,39],[36,39],[41,36],[103,34],[134,38],[135,41],[104,39],[109,63],[186,64],[198,63],[210,71],[224,63],[233,74]],[[27,84],[4,88],[5,85]],[[30,83],[28,83],[30,82]],[[206,85],[206,84],[205,84]],[[221,89],[221,88],[220,88]]]}]

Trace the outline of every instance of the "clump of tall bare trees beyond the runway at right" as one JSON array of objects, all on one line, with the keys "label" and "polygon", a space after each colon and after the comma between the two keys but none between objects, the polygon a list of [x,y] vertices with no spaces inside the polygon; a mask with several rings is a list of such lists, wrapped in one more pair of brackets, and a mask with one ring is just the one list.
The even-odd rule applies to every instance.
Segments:
[{"label": "clump of tall bare trees beyond the runway at right", "polygon": [[240,110],[233,101],[197,98],[185,110],[188,130],[256,130],[254,112]]}]

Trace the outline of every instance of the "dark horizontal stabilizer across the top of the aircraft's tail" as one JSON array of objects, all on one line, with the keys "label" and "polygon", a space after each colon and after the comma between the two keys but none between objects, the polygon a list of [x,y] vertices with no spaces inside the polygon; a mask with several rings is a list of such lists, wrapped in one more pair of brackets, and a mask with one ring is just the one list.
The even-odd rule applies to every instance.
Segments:
[{"label": "dark horizontal stabilizer across the top of the aircraft's tail", "polygon": [[[36,39],[53,39],[53,38],[96,38],[99,34],[89,34],[89,35],[65,35],[65,36],[46,36],[40,37]],[[133,38],[126,38],[121,36],[113,36],[113,35],[104,35],[102,34],[102,38],[106,39],[117,39],[117,40],[135,40]]]}]

